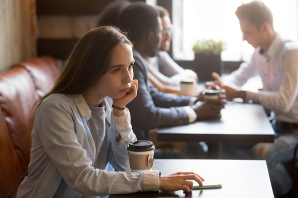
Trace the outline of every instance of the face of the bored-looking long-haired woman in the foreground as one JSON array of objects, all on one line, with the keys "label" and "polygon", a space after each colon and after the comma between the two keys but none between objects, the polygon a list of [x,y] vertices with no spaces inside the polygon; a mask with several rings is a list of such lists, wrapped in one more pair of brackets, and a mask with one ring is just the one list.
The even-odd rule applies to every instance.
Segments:
[{"label": "face of the bored-looking long-haired woman in the foreground", "polygon": [[133,80],[134,63],[132,47],[122,44],[114,51],[108,70],[95,85],[97,94],[112,99],[120,99],[126,95]]}]

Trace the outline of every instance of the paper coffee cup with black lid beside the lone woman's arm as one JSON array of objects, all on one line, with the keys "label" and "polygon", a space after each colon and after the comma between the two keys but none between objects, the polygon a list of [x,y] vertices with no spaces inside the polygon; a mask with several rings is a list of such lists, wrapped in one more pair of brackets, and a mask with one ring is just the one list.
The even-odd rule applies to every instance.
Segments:
[{"label": "paper coffee cup with black lid beside the lone woman's arm", "polygon": [[151,170],[155,146],[152,141],[131,141],[128,146],[128,157],[131,171],[142,172]]}]

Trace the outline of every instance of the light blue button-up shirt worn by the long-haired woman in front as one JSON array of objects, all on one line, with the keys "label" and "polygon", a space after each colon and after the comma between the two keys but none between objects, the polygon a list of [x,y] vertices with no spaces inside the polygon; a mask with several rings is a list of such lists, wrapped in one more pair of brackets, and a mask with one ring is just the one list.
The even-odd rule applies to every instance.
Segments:
[{"label": "light blue button-up shirt worn by the long-haired woman in front", "polygon": [[[114,116],[104,100],[111,123],[109,161],[121,171],[93,167],[95,144],[87,125],[91,111],[82,95],[52,94],[35,114],[29,174],[18,197],[82,197],[159,190],[159,171],[129,172],[126,146],[136,140],[130,113]],[[111,119],[110,119],[111,118]],[[115,138],[121,135],[121,140]]]}]

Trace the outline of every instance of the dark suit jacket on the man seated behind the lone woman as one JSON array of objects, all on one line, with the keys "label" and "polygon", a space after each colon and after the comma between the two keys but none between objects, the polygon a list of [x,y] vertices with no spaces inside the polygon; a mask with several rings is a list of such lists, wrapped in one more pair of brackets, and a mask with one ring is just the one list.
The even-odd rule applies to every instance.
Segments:
[{"label": "dark suit jacket on the man seated behind the lone woman", "polygon": [[148,85],[147,72],[142,61],[136,57],[135,60],[134,78],[138,79],[138,93],[137,97],[127,104],[132,123],[144,130],[188,123],[188,114],[182,106],[188,104],[190,97],[174,98]]}]

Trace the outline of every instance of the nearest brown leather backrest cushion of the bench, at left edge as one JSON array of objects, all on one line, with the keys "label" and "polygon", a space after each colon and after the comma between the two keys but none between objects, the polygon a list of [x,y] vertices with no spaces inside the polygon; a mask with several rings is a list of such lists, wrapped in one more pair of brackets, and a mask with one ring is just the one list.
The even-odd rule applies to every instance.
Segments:
[{"label": "nearest brown leather backrest cushion of the bench, at left edge", "polygon": [[[0,74],[0,196],[16,190],[28,173],[31,149],[33,105],[39,95],[24,67]],[[4,191],[3,191],[4,190]],[[3,193],[3,194],[2,194]]]}]

